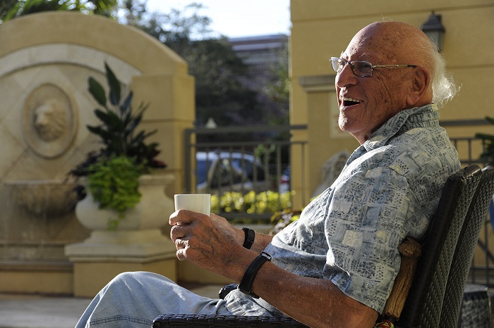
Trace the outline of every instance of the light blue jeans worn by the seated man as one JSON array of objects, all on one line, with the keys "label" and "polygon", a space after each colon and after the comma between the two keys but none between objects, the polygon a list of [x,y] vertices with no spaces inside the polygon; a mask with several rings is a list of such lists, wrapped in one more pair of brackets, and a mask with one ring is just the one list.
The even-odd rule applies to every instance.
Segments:
[{"label": "light blue jeans worn by the seated man", "polygon": [[95,296],[76,328],[146,327],[171,313],[231,315],[226,301],[198,296],[170,279],[151,272],[116,276]]}]

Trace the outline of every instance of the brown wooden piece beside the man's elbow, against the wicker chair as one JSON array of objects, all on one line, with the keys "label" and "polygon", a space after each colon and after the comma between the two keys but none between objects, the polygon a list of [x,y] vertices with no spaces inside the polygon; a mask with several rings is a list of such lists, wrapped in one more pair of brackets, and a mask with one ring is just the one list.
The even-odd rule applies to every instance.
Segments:
[{"label": "brown wooden piece beside the man's elbow, against the wicker chair", "polygon": [[414,281],[415,269],[418,258],[422,254],[421,244],[416,239],[407,236],[402,244],[398,245],[398,251],[402,258],[399,271],[394,279],[390,297],[387,298],[382,316],[389,318],[392,322],[399,319],[406,297],[409,294],[411,283]]}]

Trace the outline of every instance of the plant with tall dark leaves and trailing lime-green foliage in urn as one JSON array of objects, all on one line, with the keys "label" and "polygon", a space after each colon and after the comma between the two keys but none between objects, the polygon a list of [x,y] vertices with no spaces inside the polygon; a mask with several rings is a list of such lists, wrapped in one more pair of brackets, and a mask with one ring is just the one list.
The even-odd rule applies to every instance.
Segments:
[{"label": "plant with tall dark leaves and trailing lime-green foliage in urn", "polygon": [[[76,178],[85,177],[85,185],[78,187],[81,201],[76,206],[76,215],[80,217],[80,212],[88,208],[89,203],[97,203],[103,211],[102,217],[106,217],[104,225],[116,229],[141,201],[143,175],[150,173],[152,168],[165,168],[166,164],[156,159],[158,144],[146,142],[156,130],[138,130],[147,105],[141,103],[134,111],[133,92],[122,96],[121,83],[107,63],[104,67],[108,96],[99,82],[93,77],[88,79],[88,90],[102,108],[94,110],[100,124],[87,127],[99,137],[102,147],[88,153],[70,173]],[[89,216],[94,219],[98,215]],[[101,226],[97,225],[98,228]]]}]

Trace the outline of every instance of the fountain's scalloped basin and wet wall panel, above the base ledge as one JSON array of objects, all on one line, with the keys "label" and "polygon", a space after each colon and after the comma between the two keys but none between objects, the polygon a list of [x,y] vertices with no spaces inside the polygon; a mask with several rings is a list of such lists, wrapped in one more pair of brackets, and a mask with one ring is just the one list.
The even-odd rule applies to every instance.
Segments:
[{"label": "fountain's scalloped basin and wet wall panel, above the base ledge", "polygon": [[64,246],[88,237],[73,213],[72,183],[50,180],[5,182],[1,260],[64,262]]}]

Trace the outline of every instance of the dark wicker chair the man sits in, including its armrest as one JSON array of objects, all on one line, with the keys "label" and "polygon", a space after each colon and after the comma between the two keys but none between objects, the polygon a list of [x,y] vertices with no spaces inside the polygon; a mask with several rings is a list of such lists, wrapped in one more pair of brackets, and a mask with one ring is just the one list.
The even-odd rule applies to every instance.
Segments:
[{"label": "dark wicker chair the man sits in, including its armrest", "polygon": [[[447,272],[450,270],[453,258],[451,250],[457,244],[481,175],[482,171],[477,165],[470,165],[447,179],[438,210],[428,229],[426,241],[423,243],[423,256],[418,261],[416,276],[410,294],[406,298],[402,317],[398,320],[399,313],[394,313],[389,318],[397,320],[397,327],[446,327],[439,326],[439,320],[448,278]],[[409,275],[409,278],[413,276]],[[409,286],[406,286],[406,283],[404,285],[407,291]],[[402,293],[402,291],[396,292]],[[401,312],[401,306],[398,308],[398,312]],[[388,316],[385,315],[386,318]],[[283,328],[306,326],[290,318],[279,317],[168,314],[157,317],[152,327]]]}]

